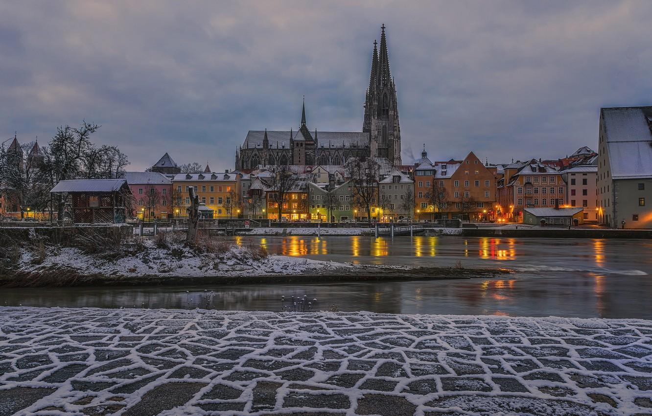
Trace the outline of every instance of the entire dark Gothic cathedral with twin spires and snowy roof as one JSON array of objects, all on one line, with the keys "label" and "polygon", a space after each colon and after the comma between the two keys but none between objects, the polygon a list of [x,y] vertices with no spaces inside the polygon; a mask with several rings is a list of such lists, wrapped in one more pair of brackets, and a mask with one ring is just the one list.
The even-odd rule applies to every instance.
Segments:
[{"label": "entire dark Gothic cathedral with twin spires and snowy roof", "polygon": [[249,130],[243,145],[235,151],[235,169],[248,171],[261,165],[343,165],[349,157],[368,156],[401,164],[398,102],[389,72],[385,25],[381,26],[379,47],[374,41],[362,132],[311,131],[304,102],[297,130]]}]

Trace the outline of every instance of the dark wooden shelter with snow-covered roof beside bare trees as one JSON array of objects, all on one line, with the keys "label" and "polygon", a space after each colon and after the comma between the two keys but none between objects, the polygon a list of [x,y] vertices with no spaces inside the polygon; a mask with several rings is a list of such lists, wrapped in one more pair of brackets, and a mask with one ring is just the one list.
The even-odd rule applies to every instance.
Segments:
[{"label": "dark wooden shelter with snow-covered roof beside bare trees", "polygon": [[119,224],[125,222],[126,201],[131,194],[125,179],[60,181],[50,192],[70,195],[74,224]]}]

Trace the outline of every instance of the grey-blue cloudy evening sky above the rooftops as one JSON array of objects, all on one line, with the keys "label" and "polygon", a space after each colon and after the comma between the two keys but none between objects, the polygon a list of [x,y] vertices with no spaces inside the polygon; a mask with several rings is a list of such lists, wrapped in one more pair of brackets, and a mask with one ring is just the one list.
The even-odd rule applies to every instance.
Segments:
[{"label": "grey-blue cloudy evening sky above the rooftops", "polygon": [[3,1],[0,141],[102,125],[132,170],[233,168],[247,130],[361,130],[385,23],[404,163],[595,149],[652,104],[652,1]]}]

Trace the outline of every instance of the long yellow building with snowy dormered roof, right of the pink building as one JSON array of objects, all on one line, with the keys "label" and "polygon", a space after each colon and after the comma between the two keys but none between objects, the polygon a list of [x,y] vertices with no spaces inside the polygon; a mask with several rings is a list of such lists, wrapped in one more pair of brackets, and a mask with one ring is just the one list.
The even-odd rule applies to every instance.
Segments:
[{"label": "long yellow building with snowy dormered roof, right of the pink building", "polygon": [[186,209],[190,206],[188,188],[192,186],[200,198],[200,212],[204,218],[238,218],[242,211],[239,173],[228,170],[211,172],[208,166],[206,168],[202,173],[174,175],[172,188],[177,196],[175,210],[179,209],[175,216],[187,215]]}]

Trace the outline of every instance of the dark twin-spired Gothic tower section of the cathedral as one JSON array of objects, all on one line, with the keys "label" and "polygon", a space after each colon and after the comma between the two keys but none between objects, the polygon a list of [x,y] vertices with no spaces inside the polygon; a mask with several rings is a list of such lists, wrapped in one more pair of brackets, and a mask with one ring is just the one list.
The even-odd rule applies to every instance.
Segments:
[{"label": "dark twin-spired Gothic tower section of the cathedral", "polygon": [[380,48],[374,40],[369,89],[364,100],[363,132],[370,134],[371,156],[401,164],[401,130],[398,124],[396,85],[389,72],[385,25],[381,26]]}]

